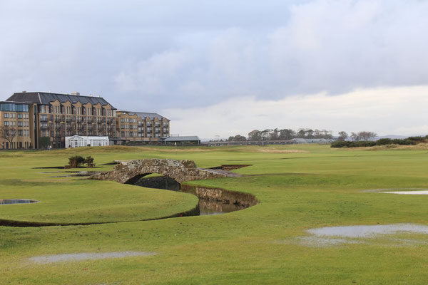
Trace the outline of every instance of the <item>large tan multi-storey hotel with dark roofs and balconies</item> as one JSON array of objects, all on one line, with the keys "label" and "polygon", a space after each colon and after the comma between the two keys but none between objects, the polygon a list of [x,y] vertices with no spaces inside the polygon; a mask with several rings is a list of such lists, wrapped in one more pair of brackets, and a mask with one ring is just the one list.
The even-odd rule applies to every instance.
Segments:
[{"label": "large tan multi-storey hotel with dark roofs and balconies", "polygon": [[21,92],[0,101],[0,148],[65,147],[72,135],[108,136],[110,143],[155,142],[170,135],[156,113],[117,110],[101,97]]}]

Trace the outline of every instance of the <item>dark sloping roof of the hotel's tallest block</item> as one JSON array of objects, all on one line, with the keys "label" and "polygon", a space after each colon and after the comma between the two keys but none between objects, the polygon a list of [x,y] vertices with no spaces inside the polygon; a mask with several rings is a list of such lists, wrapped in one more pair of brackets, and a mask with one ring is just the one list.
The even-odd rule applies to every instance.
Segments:
[{"label": "dark sloping roof of the hotel's tallest block", "polygon": [[[91,103],[96,105],[100,103],[101,105],[108,105],[109,103],[104,100],[102,97],[91,97],[91,96],[81,96],[81,95],[71,95],[71,94],[61,94],[61,93],[46,93],[46,92],[21,92],[14,93],[6,101],[14,101],[21,103],[37,103],[43,105],[49,105],[49,103],[54,100],[58,100],[61,103],[70,101],[71,103],[80,102],[82,104]],[[112,109],[116,109],[111,106]]]}]

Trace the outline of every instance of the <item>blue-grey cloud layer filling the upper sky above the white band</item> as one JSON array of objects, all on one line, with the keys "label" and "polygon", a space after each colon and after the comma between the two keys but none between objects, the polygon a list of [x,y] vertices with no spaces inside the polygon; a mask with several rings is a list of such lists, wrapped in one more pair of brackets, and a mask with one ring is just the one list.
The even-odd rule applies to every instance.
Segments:
[{"label": "blue-grey cloud layer filling the upper sky above the white band", "polygon": [[[428,83],[426,1],[1,1],[0,84],[127,109]],[[136,107],[138,106],[138,107]]]}]

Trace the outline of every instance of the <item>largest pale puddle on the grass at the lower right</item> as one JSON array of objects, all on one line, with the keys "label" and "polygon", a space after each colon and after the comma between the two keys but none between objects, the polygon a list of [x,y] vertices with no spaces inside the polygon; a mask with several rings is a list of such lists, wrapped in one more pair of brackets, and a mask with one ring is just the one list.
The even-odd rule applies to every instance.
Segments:
[{"label": "largest pale puddle on the grass at the lower right", "polygon": [[[428,234],[428,226],[419,224],[382,224],[382,225],[359,225],[344,227],[320,227],[308,229],[310,236],[299,237],[302,244],[322,247],[338,244],[357,244],[365,242],[364,239],[375,239],[385,235],[394,234]],[[363,239],[363,240],[361,240]],[[393,239],[392,242],[400,244],[419,244],[414,239]]]}]

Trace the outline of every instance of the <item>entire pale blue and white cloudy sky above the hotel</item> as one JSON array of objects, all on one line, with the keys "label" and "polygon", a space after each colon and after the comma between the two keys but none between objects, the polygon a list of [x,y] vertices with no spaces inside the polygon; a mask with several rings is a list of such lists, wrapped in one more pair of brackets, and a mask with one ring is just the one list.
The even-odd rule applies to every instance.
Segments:
[{"label": "entire pale blue and white cloudy sky above the hotel", "polygon": [[200,138],[428,134],[428,1],[0,0],[0,100],[101,95]]}]

